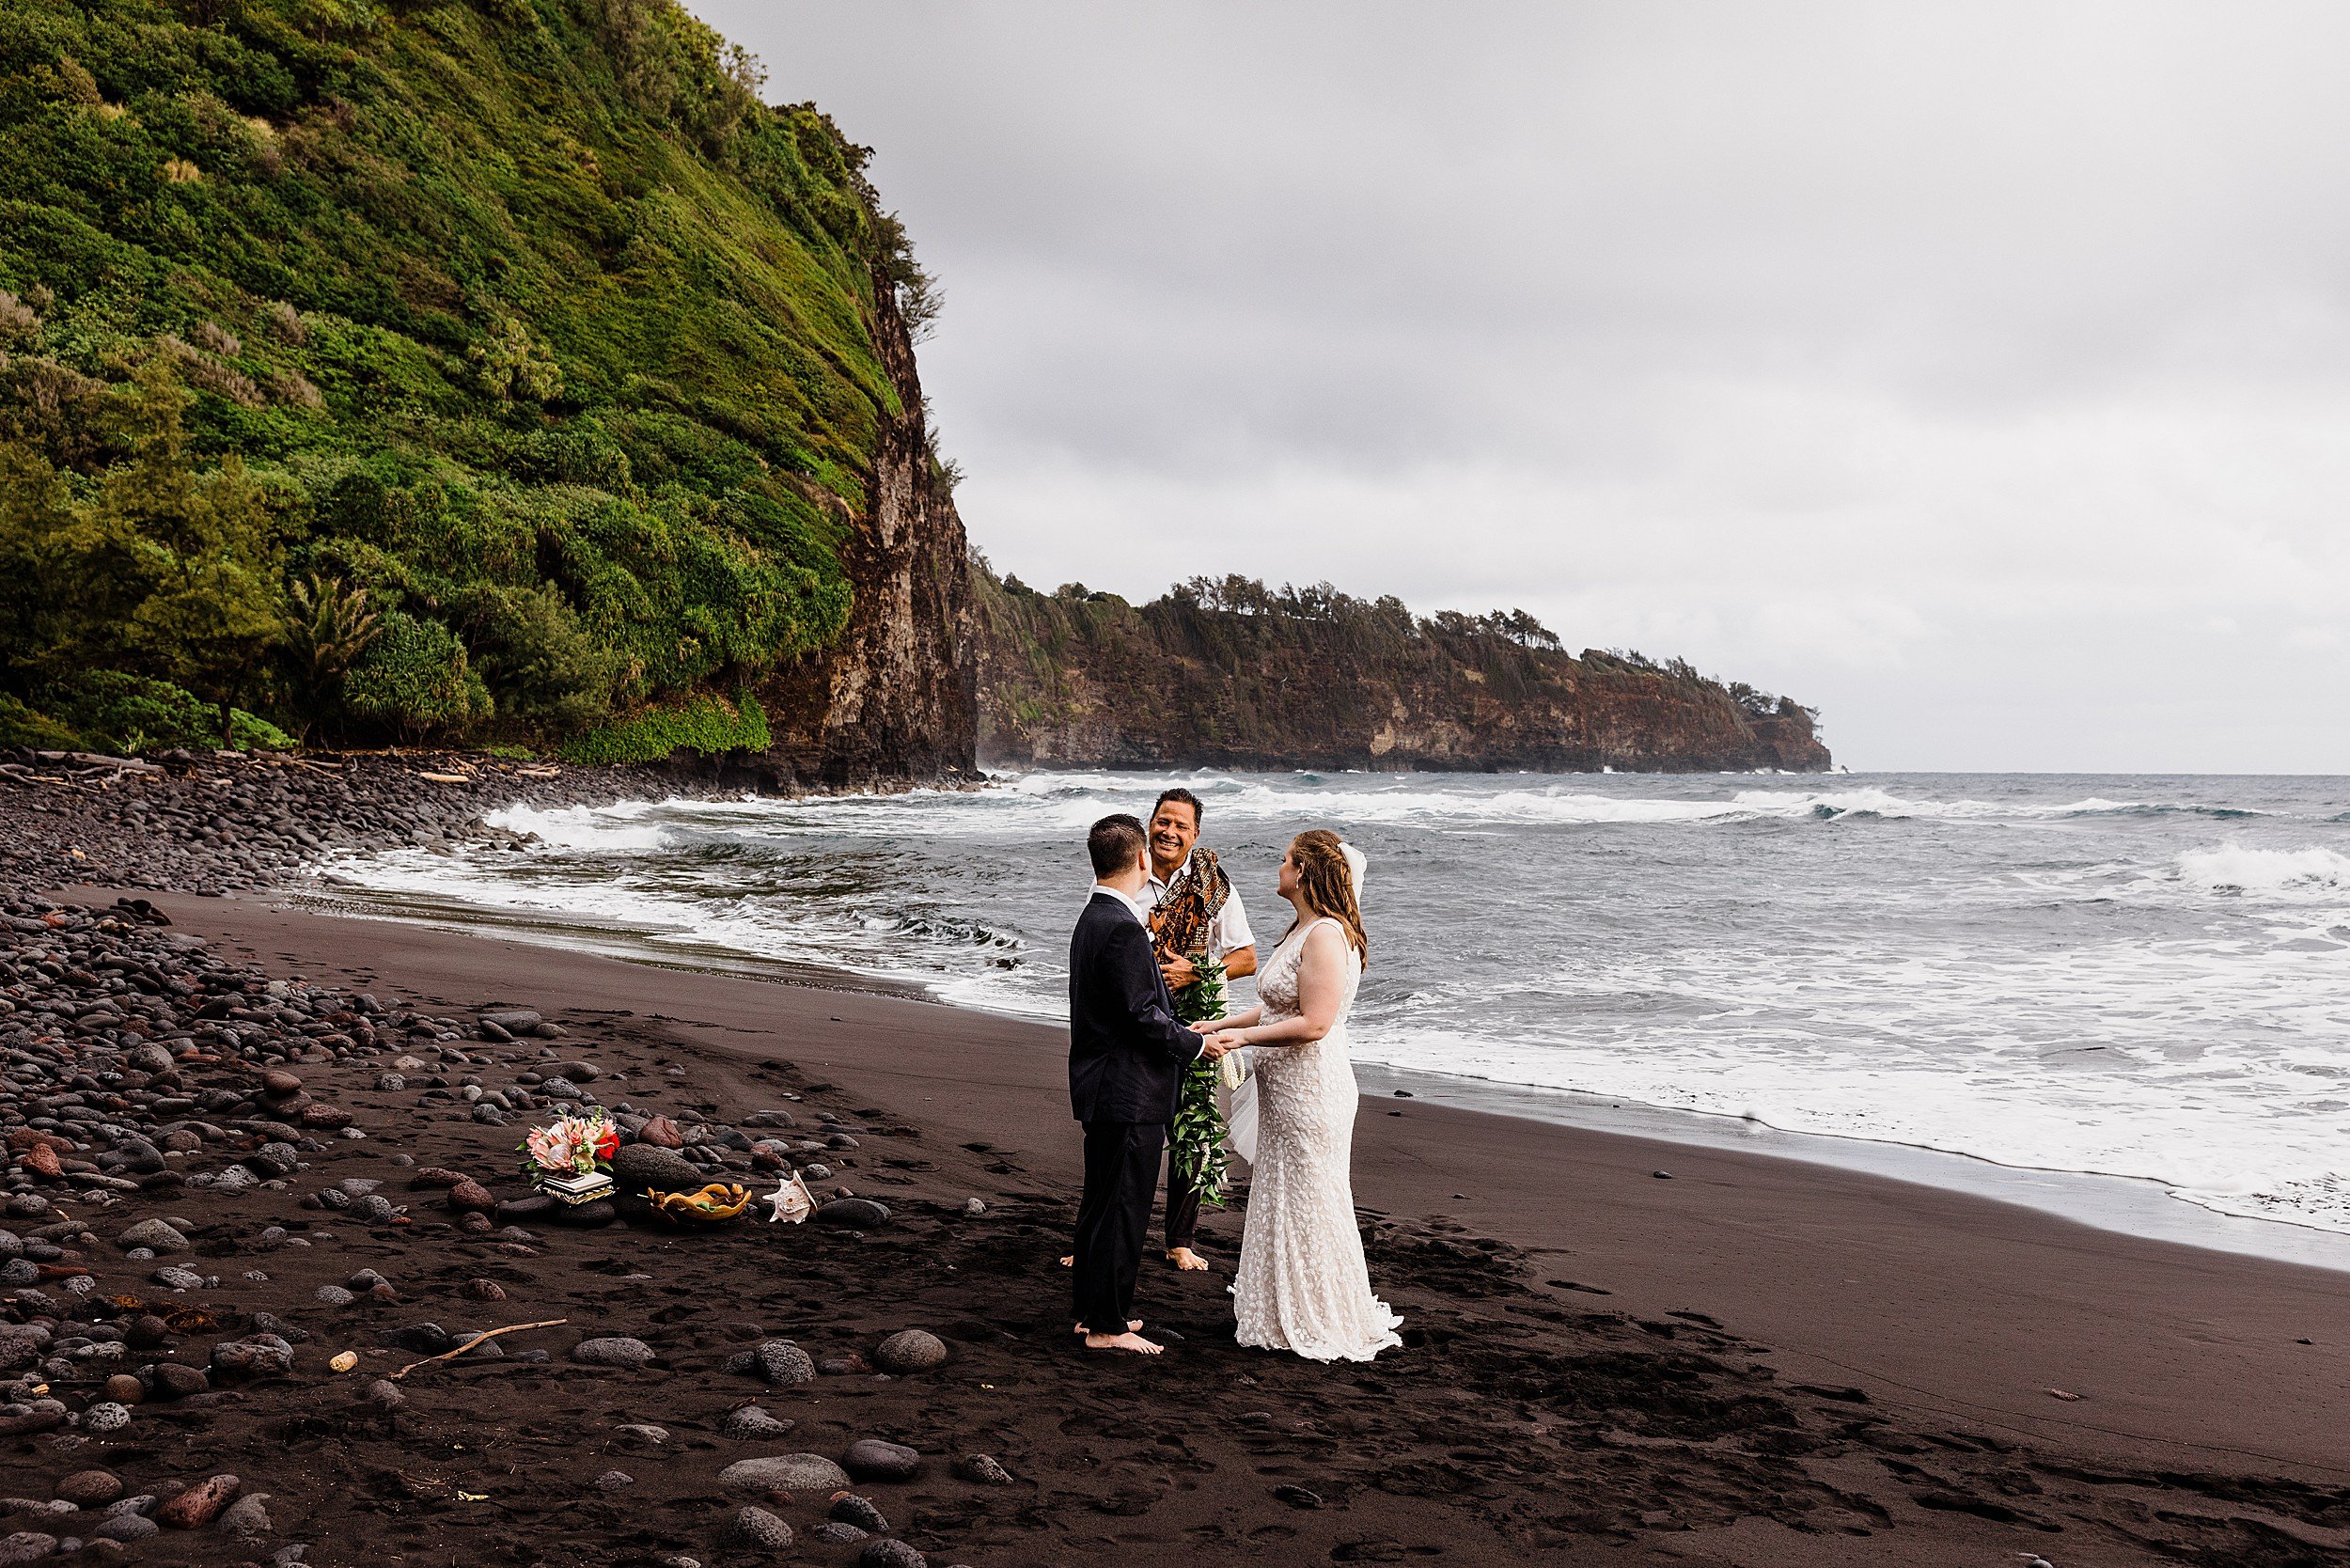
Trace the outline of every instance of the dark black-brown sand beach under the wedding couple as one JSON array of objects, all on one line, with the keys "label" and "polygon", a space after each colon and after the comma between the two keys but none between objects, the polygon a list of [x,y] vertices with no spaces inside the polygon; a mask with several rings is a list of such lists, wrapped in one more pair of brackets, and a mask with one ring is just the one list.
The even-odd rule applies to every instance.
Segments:
[{"label": "dark black-brown sand beach under the wedding couple", "polygon": [[[9,1385],[0,1493],[24,1500],[5,1528],[52,1544],[223,1563],[2350,1561],[2341,1274],[1824,1166],[1365,1100],[1356,1197],[1403,1352],[1325,1368],[1238,1349],[1224,1284],[1241,1215],[1224,1213],[1206,1227],[1215,1274],[1144,1274],[1142,1312],[1180,1335],[1170,1354],[1100,1359],[1067,1335],[1055,1265],[1076,1201],[1058,1030],[254,898],[150,896],[169,929],[115,912],[106,931],[110,891],[52,896],[87,912],[12,896],[0,947],[19,980],[0,990],[0,1030],[19,1044],[0,1133],[14,1187],[52,1211],[12,1206],[0,1227],[47,1229],[52,1255],[21,1286],[35,1295],[12,1286],[0,1307],[47,1333],[49,1359],[5,1375],[61,1406],[49,1420]],[[82,966],[52,976],[31,947]],[[132,969],[101,961],[125,954]],[[251,969],[174,969],[207,957]],[[143,1001],[56,1006],[115,976],[143,978]],[[200,992],[172,987],[188,976]],[[284,1013],[301,1027],[263,990],[294,976],[287,997],[308,1001]],[[207,1001],[228,1006],[197,1020]],[[484,1039],[489,1006],[531,1009],[562,1037]],[[134,1034],[172,1063],[134,1065]],[[764,1190],[750,1166],[822,1164],[820,1194],[877,1199],[888,1220],[677,1232],[515,1208],[512,1145],[555,1103],[557,1065],[592,1067],[578,1086],[630,1117],[700,1128],[712,1173]],[[261,1072],[301,1084],[280,1093]],[[468,1077],[526,1110],[475,1119]],[[334,1126],[345,1114],[364,1138]],[[148,1161],[110,1159],[134,1140],[108,1133],[110,1150],[59,1152],[87,1175],[45,1175],[40,1117],[141,1121],[155,1140],[209,1119],[219,1135],[181,1126]],[[275,1168],[266,1145],[282,1133],[298,1159],[282,1185],[193,1180]],[[508,1208],[463,1220],[430,1171]],[[78,1194],[99,1173],[110,1201],[89,1204]],[[381,1187],[350,1197],[345,1180]],[[322,1192],[341,1211],[303,1206]],[[153,1218],[183,1220],[190,1251],[127,1260],[118,1237]],[[174,1265],[204,1279],[157,1284]],[[66,1286],[80,1269],[96,1279],[85,1298]],[[449,1335],[550,1319],[564,1324],[496,1340],[503,1354],[411,1371],[397,1401],[376,1387]],[[268,1324],[287,1368],[268,1349],[216,1352]],[[938,1335],[945,1361],[879,1375],[881,1340],[907,1328]],[[611,1338],[649,1359],[573,1359]],[[768,1352],[780,1382],[728,1371],[771,1340],[813,1375],[794,1380],[787,1352]],[[345,1349],[357,1368],[331,1371]],[[193,1389],[164,1363],[212,1375]],[[106,1375],[141,1375],[141,1403],[96,1432]],[[736,1415],[747,1403],[790,1427],[754,1434]],[[745,1458],[844,1460],[867,1439],[916,1458],[900,1479],[886,1453],[858,1467],[853,1490],[888,1526],[862,1540],[837,1521],[841,1540],[818,1533],[837,1486],[813,1465],[785,1486],[721,1479]],[[179,1483],[233,1474],[268,1497],[242,1514],[266,1528],[106,1544],[110,1488],[87,1472],[157,1497],[146,1514],[167,1514]],[[61,1512],[61,1488],[94,1502]],[[747,1507],[792,1544],[745,1535]],[[284,1559],[294,1542],[306,1554]]]}]

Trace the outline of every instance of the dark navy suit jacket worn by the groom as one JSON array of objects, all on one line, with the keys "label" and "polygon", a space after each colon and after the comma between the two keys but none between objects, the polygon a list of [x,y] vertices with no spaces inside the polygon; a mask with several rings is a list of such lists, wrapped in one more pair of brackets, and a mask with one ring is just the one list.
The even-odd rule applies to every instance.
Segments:
[{"label": "dark navy suit jacket worn by the groom", "polygon": [[1069,1110],[1079,1121],[1173,1121],[1201,1046],[1133,912],[1093,893],[1069,933]]}]

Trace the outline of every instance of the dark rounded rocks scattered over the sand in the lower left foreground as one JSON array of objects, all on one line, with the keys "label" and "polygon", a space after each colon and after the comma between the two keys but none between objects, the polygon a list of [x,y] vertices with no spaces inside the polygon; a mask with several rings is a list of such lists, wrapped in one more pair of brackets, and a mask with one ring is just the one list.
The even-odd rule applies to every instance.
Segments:
[{"label": "dark rounded rocks scattered over the sand in the lower left foreground", "polygon": [[[949,1359],[947,1342],[921,1328],[888,1335],[872,1352],[874,1366],[848,1349],[820,1368],[801,1345],[766,1335],[738,1335],[747,1347],[731,1361],[717,1349],[705,1359],[691,1338],[665,1335],[667,1316],[630,1319],[623,1333],[580,1312],[578,1295],[548,1302],[543,1281],[538,1300],[524,1295],[529,1305],[498,1309],[498,1319],[456,1326],[458,1302],[503,1302],[510,1288],[533,1288],[531,1274],[501,1265],[545,1248],[536,1227],[627,1218],[625,1201],[524,1197],[512,1154],[482,1159],[484,1143],[510,1147],[512,1133],[489,1138],[484,1124],[602,1105],[630,1138],[613,1161],[616,1185],[639,1208],[644,1190],[691,1190],[714,1175],[764,1180],[799,1166],[830,1178],[832,1166],[855,1166],[858,1138],[872,1135],[785,1091],[776,1095],[785,1105],[752,1100],[719,1121],[710,1105],[672,1105],[670,1084],[642,1058],[632,1072],[644,1088],[632,1091],[613,1048],[571,1039],[522,1006],[449,1011],[273,978],[176,933],[139,900],[82,907],[0,896],[0,1460],[28,1443],[54,1446],[42,1453],[59,1476],[42,1497],[0,1497],[0,1519],[42,1526],[0,1540],[0,1561],[176,1530],[273,1556],[263,1542],[287,1519],[308,1516],[317,1497],[284,1479],[273,1500],[263,1483],[228,1474],[125,1479],[106,1462],[139,1476],[139,1460],[172,1453],[179,1427],[277,1432],[289,1408],[315,1410],[320,1399],[336,1410],[334,1422],[397,1434],[439,1401],[418,1406],[418,1382],[392,1375],[446,1352],[458,1352],[454,1366],[536,1363],[606,1387],[613,1378],[667,1387],[679,1373],[724,1378],[733,1389],[754,1380],[780,1408],[825,1373],[924,1373]],[[435,1126],[449,1164],[397,1152]],[[846,1190],[834,1190],[832,1204],[848,1206],[834,1222],[893,1222],[886,1206]],[[303,1211],[315,1218],[296,1218]],[[367,1246],[381,1267],[355,1267],[357,1258],[336,1267],[334,1253],[315,1251],[334,1246],[334,1232]],[[822,1246],[855,1241],[813,1227],[797,1234]],[[463,1246],[468,1255],[404,1269],[400,1258],[416,1244]],[[649,1279],[620,1260],[609,1267],[623,1284]],[[125,1281],[134,1295],[118,1293]],[[439,1321],[409,1307],[418,1298],[437,1298]],[[494,1326],[517,1326],[505,1319],[545,1328],[536,1319],[566,1312],[569,1338],[486,1338]],[[381,1361],[360,1371],[367,1356]],[[710,1521],[714,1542],[783,1552],[794,1526],[776,1509],[820,1505],[846,1490],[851,1474],[891,1483],[919,1472],[914,1450],[879,1439],[839,1460],[776,1455],[794,1418],[728,1396],[726,1408],[682,1413],[731,1448],[717,1481],[733,1502]],[[630,1465],[637,1474],[658,1474],[689,1448],[649,1420],[611,1427],[611,1439],[644,1460]],[[606,1472],[580,1486],[611,1493],[637,1479]],[[778,1495],[799,1502],[787,1507]],[[801,1542],[891,1549],[872,1561],[921,1561],[888,1540],[862,1497],[844,1497],[830,1519],[808,1519],[801,1530]],[[287,1552],[296,1549],[282,1547],[273,1561],[296,1563]]]}]

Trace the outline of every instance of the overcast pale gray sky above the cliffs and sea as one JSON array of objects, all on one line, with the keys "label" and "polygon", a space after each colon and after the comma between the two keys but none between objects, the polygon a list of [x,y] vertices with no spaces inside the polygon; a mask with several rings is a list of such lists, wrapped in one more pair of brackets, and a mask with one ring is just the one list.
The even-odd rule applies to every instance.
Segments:
[{"label": "overcast pale gray sky above the cliffs and sea", "polygon": [[1854,769],[2350,773],[2350,12],[696,0],[999,571],[1525,607]]}]

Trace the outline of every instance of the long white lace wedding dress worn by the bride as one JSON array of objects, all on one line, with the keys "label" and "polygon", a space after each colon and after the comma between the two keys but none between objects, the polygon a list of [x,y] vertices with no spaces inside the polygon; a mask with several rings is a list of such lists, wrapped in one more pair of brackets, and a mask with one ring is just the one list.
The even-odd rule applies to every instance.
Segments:
[{"label": "long white lace wedding dress worn by the bride", "polygon": [[[1297,961],[1314,922],[1288,936],[1257,976],[1262,1023],[1297,1016]],[[1231,1286],[1241,1345],[1309,1361],[1370,1361],[1403,1345],[1403,1319],[1370,1293],[1354,1220],[1354,1063],[1347,1013],[1363,961],[1347,945],[1347,997],[1311,1046],[1255,1046],[1257,1150]]]}]

